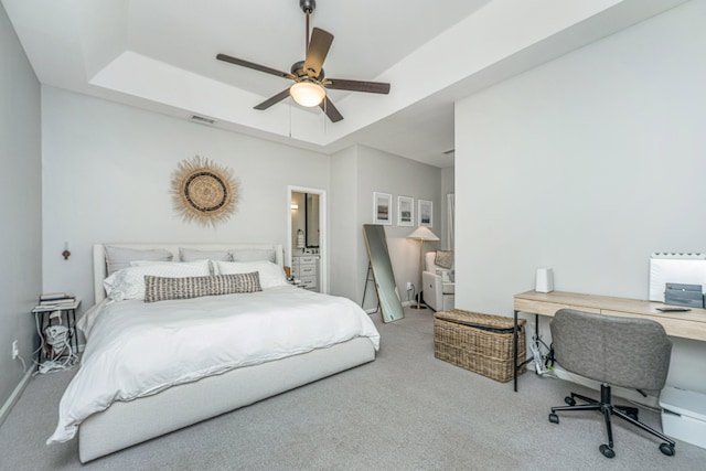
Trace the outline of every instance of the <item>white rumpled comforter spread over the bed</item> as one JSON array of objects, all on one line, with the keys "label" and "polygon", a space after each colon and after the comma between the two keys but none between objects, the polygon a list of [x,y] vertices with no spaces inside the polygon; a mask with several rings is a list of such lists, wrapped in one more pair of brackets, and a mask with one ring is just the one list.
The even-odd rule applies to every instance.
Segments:
[{"label": "white rumpled comforter spread over the bed", "polygon": [[379,334],[353,301],[293,287],[103,307],[47,443],[71,440],[78,425],[115,400],[149,396],[226,371]]}]

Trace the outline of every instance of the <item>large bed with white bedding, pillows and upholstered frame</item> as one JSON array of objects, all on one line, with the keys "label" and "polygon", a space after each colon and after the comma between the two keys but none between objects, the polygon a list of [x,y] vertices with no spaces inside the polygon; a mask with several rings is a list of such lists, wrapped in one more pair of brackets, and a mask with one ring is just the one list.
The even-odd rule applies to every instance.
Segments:
[{"label": "large bed with white bedding, pillows and upholstered frame", "polygon": [[[191,260],[132,260],[121,269],[106,259],[106,250],[148,249],[168,251],[173,260],[180,256]],[[162,268],[201,270],[200,254],[217,258],[226,253],[237,255],[236,261],[206,261],[208,279],[236,267],[235,272],[244,275],[232,277],[239,277],[240,282],[252,275],[248,267],[260,267],[261,291],[147,302],[145,299],[156,292],[163,296],[152,289],[154,282],[174,280],[142,277],[143,299],[121,299],[122,291],[116,295],[111,281],[120,275],[126,279],[142,272],[159,275]],[[268,259],[260,260],[264,256]],[[281,245],[94,246],[96,304],[79,321],[87,333],[86,349],[47,443],[68,441],[77,435],[79,459],[87,462],[375,360],[379,335],[370,317],[347,299],[286,283],[282,266]],[[114,272],[108,276],[110,268]],[[111,291],[107,298],[106,289]],[[161,352],[176,356],[159,366]],[[139,365],[129,364],[136,358]],[[161,368],[159,373],[148,373],[143,365],[150,363]],[[130,374],[116,379],[120,371]]]}]

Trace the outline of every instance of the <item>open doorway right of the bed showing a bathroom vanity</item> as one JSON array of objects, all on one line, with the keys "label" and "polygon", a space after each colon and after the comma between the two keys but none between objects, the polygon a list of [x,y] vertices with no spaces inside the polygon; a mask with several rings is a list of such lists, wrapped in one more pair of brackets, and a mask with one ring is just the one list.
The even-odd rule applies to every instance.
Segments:
[{"label": "open doorway right of the bed showing a bathroom vanity", "polygon": [[298,286],[329,292],[327,283],[327,192],[289,186],[287,259]]}]

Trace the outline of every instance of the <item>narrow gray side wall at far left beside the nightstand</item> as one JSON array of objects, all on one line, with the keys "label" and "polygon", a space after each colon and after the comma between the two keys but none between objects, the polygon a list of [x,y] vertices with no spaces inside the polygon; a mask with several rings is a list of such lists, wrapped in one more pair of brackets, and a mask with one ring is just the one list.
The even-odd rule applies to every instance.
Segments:
[{"label": "narrow gray side wall at far left beside the nightstand", "polygon": [[[31,367],[34,322],[29,311],[42,290],[40,85],[0,4],[0,407],[23,377],[11,344]],[[0,417],[0,420],[2,417]]]}]

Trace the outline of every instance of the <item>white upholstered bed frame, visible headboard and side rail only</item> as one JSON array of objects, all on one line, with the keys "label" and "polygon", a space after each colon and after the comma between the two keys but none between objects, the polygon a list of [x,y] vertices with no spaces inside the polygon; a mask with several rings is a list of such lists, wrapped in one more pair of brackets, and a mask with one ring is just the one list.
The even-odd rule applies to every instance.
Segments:
[{"label": "white upholstered bed frame, visible headboard and side rail only", "polygon": [[[200,250],[275,249],[284,265],[281,245],[265,244],[107,244],[128,248],[165,248],[179,259],[179,247]],[[104,245],[94,246],[96,302],[105,298]],[[172,386],[153,396],[114,403],[88,417],[78,429],[78,457],[87,462],[170,431],[254,404],[298,386],[375,360],[368,339],[356,338],[328,349],[232,370],[197,382]]]}]

